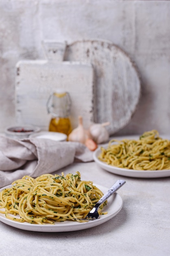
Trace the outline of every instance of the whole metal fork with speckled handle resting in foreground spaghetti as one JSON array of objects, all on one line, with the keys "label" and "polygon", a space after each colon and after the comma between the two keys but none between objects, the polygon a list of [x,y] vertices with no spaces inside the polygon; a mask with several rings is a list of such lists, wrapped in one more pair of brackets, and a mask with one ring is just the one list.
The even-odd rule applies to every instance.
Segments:
[{"label": "whole metal fork with speckled handle resting in foreground spaghetti", "polygon": [[[94,205],[93,209],[89,211],[87,216],[81,220],[97,220],[99,217],[98,207],[100,204],[104,203],[111,195],[113,195],[121,186],[126,183],[124,180],[117,180],[113,186],[98,200],[98,202]],[[80,219],[79,219],[80,220]]]}]

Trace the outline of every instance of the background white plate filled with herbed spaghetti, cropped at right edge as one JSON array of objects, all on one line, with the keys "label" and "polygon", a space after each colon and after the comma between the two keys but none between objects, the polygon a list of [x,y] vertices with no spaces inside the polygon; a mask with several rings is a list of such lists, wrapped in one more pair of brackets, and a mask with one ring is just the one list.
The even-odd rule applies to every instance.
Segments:
[{"label": "background white plate filled with herbed spaghetti, cropped at right edge", "polygon": [[144,132],[140,137],[112,139],[98,148],[93,158],[98,166],[117,175],[170,176],[170,141],[159,137],[157,130]]}]

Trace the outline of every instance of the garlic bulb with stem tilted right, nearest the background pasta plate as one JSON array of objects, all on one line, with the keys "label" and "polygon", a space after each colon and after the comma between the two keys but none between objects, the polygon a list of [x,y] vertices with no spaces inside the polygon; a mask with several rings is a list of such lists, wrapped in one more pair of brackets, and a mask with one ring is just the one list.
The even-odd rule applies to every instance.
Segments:
[{"label": "garlic bulb with stem tilted right, nearest the background pasta plate", "polygon": [[110,123],[106,122],[103,124],[92,124],[89,127],[89,134],[90,137],[96,141],[97,144],[106,142],[109,140],[109,132],[105,128],[105,126],[108,126]]}]

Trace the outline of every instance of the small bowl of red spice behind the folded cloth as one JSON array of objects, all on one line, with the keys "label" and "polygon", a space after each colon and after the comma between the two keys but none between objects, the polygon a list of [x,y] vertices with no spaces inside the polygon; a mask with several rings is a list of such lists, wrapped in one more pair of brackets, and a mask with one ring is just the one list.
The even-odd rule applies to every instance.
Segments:
[{"label": "small bowl of red spice behind the folded cloth", "polygon": [[11,126],[5,129],[5,135],[13,139],[25,139],[31,134],[39,132],[40,128],[33,125]]}]

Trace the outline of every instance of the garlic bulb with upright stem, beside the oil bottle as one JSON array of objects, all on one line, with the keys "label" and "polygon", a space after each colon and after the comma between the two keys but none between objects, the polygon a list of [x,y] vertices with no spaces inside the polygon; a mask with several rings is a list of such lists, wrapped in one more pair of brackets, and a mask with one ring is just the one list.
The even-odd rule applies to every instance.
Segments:
[{"label": "garlic bulb with upright stem, beside the oil bottle", "polygon": [[83,118],[79,116],[78,126],[68,135],[68,141],[76,141],[85,144],[87,137],[87,131],[83,127]]}]

